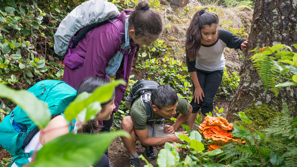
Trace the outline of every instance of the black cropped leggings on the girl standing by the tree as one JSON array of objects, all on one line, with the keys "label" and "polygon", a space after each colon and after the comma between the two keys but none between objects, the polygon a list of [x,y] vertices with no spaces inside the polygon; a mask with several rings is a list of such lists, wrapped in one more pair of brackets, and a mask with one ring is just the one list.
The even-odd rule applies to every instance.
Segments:
[{"label": "black cropped leggings on the girl standing by the tree", "polygon": [[[213,102],[214,102],[214,96],[216,95],[219,86],[222,82],[222,76],[223,76],[224,70],[215,70],[215,71],[204,71],[197,69],[197,77],[198,81],[200,83],[201,89],[203,90],[204,97],[202,96],[203,102],[199,98],[199,104],[198,101],[196,101],[194,98],[191,101],[191,105],[193,107],[192,113],[197,113],[199,109],[201,108],[201,113],[206,116],[206,113],[209,113],[213,111]],[[194,90],[193,94],[195,92],[195,86],[193,84]]]}]

